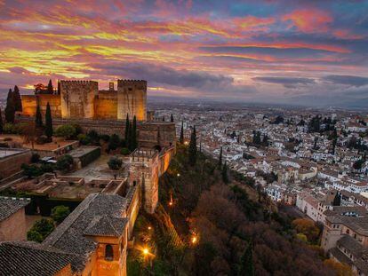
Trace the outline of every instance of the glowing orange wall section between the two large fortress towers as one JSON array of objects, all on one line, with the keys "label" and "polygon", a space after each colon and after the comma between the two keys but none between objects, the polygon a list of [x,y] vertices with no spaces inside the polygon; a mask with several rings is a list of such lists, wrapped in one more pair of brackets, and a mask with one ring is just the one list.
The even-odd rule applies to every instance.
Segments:
[{"label": "glowing orange wall section between the two large fortress towers", "polygon": [[116,120],[116,91],[99,91],[99,95],[94,99],[94,118]]}]

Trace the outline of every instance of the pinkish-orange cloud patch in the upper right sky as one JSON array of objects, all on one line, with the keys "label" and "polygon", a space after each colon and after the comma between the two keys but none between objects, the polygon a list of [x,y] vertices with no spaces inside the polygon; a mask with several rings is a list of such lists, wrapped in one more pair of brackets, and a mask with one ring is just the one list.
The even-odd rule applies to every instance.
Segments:
[{"label": "pinkish-orange cloud patch in the upper right sky", "polygon": [[333,21],[330,13],[317,9],[297,10],[285,14],[282,20],[290,22],[289,28],[296,27],[305,33],[328,31]]}]

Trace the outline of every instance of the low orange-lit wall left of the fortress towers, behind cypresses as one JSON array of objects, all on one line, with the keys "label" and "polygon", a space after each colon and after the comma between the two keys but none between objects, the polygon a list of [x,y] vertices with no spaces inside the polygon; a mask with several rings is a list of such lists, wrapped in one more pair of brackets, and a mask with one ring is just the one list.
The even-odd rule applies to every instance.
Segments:
[{"label": "low orange-lit wall left of the fortress towers, behind cypresses", "polygon": [[46,113],[47,103],[50,104],[50,109],[52,111],[52,117],[61,117],[61,100],[60,95],[48,95],[48,94],[39,94],[39,95],[22,95],[21,96],[21,104],[22,104],[22,114],[25,116],[34,117],[36,115],[36,107],[38,105],[41,108],[41,113]]}]

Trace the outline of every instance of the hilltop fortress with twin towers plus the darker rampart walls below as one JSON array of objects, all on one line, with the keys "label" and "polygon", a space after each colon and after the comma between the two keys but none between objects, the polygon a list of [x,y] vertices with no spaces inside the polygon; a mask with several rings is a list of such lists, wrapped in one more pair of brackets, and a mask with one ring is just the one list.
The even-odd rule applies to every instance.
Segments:
[{"label": "hilltop fortress with twin towers plus the darker rampart walls below", "polygon": [[[109,83],[108,91],[99,90],[95,81],[60,81],[55,94],[21,95],[22,122],[33,122],[36,107],[45,114],[47,103],[52,110],[54,127],[61,124],[78,124],[84,131],[96,130],[108,135],[124,136],[126,115],[137,118],[140,147],[172,146],[175,141],[175,124],[154,121],[147,110],[147,81],[117,80]],[[149,115],[148,115],[149,114]]]}]

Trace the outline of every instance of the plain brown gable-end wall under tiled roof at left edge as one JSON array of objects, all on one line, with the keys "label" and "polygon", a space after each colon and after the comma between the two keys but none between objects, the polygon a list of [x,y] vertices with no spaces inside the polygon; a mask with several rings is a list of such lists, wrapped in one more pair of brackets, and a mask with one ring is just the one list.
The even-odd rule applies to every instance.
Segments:
[{"label": "plain brown gable-end wall under tiled roof at left edge", "polygon": [[0,241],[22,241],[27,238],[24,208],[0,222]]}]

